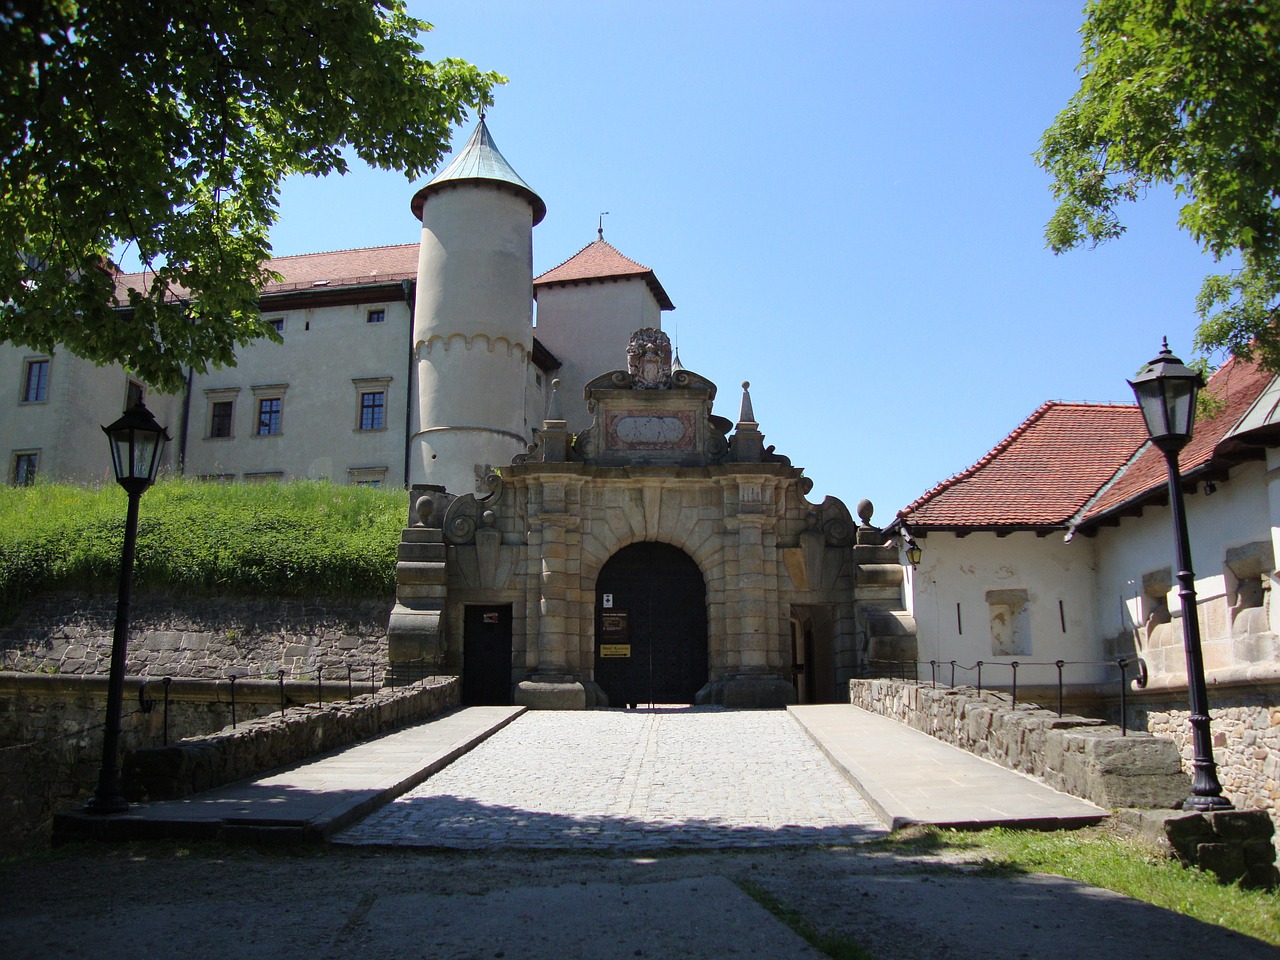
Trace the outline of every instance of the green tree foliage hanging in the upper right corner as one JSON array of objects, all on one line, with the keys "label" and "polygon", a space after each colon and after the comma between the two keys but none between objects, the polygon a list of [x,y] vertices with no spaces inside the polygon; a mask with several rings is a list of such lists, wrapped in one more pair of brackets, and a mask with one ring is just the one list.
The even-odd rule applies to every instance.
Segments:
[{"label": "green tree foliage hanging in the upper right corner", "polygon": [[1204,279],[1197,347],[1280,371],[1280,0],[1089,0],[1080,88],[1041,141],[1062,252],[1124,232],[1155,184],[1239,269]]}]

